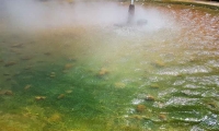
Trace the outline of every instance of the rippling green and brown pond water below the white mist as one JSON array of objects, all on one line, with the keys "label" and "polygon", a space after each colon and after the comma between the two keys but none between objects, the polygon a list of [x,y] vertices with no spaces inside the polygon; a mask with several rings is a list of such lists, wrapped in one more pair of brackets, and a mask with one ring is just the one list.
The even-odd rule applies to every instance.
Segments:
[{"label": "rippling green and brown pond water below the white mist", "polygon": [[218,11],[139,11],[145,26],[1,21],[0,130],[219,130]]}]

